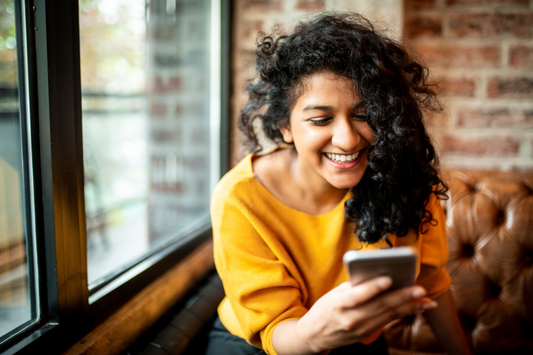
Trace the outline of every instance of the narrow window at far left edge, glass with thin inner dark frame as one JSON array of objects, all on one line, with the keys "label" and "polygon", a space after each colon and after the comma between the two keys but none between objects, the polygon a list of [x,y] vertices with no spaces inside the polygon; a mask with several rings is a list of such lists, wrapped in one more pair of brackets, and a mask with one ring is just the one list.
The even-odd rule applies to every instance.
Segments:
[{"label": "narrow window at far left edge, glass with thin inner dark frame", "polygon": [[32,171],[20,7],[0,0],[0,341],[36,319]]}]

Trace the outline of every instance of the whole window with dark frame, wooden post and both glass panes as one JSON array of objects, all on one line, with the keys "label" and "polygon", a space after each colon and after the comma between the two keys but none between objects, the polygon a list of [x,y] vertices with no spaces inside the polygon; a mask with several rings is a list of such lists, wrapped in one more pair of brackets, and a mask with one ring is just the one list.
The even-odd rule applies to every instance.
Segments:
[{"label": "whole window with dark frame, wooden post and both glass panes", "polygon": [[210,237],[228,4],[0,0],[0,352],[65,351]]}]

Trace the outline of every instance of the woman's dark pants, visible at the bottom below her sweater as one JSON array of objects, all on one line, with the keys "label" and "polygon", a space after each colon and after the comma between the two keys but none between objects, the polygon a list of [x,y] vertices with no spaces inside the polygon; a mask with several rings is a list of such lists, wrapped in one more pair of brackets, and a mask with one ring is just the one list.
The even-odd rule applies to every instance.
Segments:
[{"label": "woman's dark pants, visible at the bottom below her sweater", "polygon": [[[388,355],[387,344],[383,335],[369,345],[355,343],[334,349],[330,355]],[[266,355],[246,340],[231,334],[217,317],[209,332],[206,355]]]}]

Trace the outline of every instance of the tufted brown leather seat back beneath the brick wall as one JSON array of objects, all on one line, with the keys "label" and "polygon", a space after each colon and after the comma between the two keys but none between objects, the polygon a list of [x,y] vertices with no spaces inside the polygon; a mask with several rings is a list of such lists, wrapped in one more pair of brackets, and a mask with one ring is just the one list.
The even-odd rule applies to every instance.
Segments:
[{"label": "tufted brown leather seat back beneath the brick wall", "polygon": [[[475,354],[533,354],[533,175],[447,172],[452,293]],[[423,316],[385,329],[391,355],[442,354]]]}]

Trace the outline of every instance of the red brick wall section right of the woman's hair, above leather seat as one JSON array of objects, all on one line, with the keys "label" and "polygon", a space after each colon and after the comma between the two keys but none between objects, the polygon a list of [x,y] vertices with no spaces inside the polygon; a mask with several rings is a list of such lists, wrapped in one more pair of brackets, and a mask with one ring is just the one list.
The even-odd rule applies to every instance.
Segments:
[{"label": "red brick wall section right of the woman's hair, above leather seat", "polygon": [[404,41],[439,79],[450,168],[533,170],[533,1],[406,0]]}]

